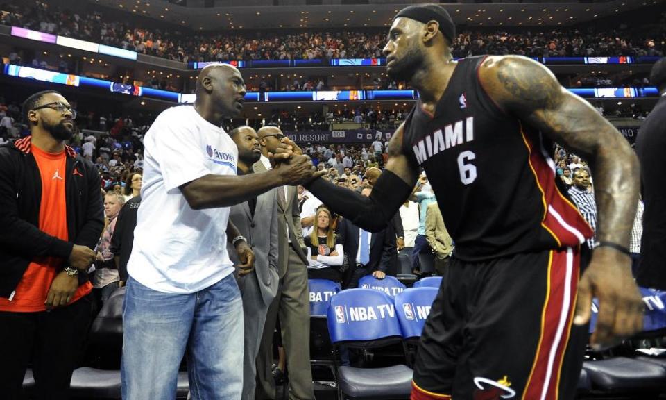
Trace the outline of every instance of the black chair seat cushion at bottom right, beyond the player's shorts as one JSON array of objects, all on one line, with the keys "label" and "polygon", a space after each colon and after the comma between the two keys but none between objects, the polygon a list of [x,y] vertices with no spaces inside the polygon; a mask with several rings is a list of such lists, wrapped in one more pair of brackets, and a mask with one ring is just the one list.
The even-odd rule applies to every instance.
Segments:
[{"label": "black chair seat cushion at bottom right, beyond the player's shorts", "polygon": [[651,390],[666,386],[666,369],[634,358],[586,361],[583,368],[592,386],[604,391]]}]

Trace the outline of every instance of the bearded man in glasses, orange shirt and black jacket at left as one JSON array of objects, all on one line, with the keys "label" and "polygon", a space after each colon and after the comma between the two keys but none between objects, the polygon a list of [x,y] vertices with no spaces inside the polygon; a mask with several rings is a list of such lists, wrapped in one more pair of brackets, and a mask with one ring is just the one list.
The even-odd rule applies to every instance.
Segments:
[{"label": "bearded man in glasses, orange shirt and black jacket at left", "polygon": [[104,225],[100,178],[65,145],[76,118],[65,97],[35,93],[22,114],[31,135],[0,147],[0,393],[21,398],[31,363],[36,399],[69,399]]}]

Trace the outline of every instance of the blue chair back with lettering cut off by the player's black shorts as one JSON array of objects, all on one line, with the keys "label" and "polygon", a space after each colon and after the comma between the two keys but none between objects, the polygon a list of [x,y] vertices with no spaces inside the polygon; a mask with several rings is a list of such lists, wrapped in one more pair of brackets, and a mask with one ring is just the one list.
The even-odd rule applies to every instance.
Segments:
[{"label": "blue chair back with lettering cut off by the player's black shorts", "polygon": [[409,288],[395,295],[395,312],[402,338],[418,338],[437,296],[437,288]]}]

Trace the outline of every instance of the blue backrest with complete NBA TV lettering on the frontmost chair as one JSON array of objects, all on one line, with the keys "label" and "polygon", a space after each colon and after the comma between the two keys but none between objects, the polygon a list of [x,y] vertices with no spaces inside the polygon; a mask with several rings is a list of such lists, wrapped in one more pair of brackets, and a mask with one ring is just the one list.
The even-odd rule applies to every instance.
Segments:
[{"label": "blue backrest with complete NBA TV lettering on the frontmost chair", "polygon": [[327,314],[331,342],[400,338],[393,299],[373,289],[347,289],[331,299]]}]

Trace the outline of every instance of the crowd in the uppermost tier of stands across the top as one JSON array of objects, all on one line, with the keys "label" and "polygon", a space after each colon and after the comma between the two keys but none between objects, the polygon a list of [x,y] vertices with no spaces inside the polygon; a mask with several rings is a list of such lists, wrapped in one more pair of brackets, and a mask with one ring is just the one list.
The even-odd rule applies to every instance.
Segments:
[{"label": "crowd in the uppermost tier of stands across the top", "polygon": [[[304,31],[298,33],[243,31],[192,33],[165,26],[150,29],[110,22],[103,12],[87,15],[40,1],[3,5],[0,24],[92,40],[139,53],[180,61],[281,60],[382,57],[386,30]],[[608,31],[594,28],[509,31],[462,31],[453,44],[454,57],[477,54],[558,56],[663,56],[666,13],[659,24],[632,29],[624,24]]]}]

